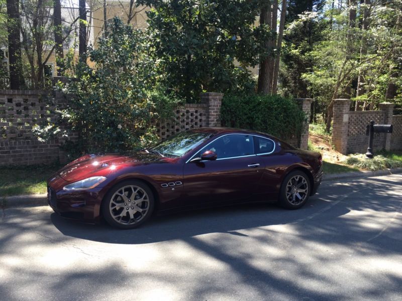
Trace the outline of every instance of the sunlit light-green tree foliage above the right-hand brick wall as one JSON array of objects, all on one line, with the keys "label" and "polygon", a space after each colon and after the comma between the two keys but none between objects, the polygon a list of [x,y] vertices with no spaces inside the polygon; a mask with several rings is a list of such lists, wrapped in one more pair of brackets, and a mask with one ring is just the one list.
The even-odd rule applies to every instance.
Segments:
[{"label": "sunlit light-green tree foliage above the right-hand brick wall", "polygon": [[[314,120],[321,113],[327,121],[331,117],[327,109],[334,98],[364,101],[367,109],[376,109],[385,101],[391,81],[400,95],[400,0],[371,1],[369,5],[361,1],[353,7],[335,3],[334,8],[322,10],[321,4],[289,2],[287,20],[291,23],[282,47],[281,93],[314,98]],[[306,12],[300,14],[303,10]],[[352,23],[351,10],[356,13]],[[392,101],[397,103],[399,98]]]}]

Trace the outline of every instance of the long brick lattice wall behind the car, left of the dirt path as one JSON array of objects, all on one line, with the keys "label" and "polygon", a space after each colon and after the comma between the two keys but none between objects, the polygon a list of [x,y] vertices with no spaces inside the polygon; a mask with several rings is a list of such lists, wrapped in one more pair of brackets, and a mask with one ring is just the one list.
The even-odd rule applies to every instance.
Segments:
[{"label": "long brick lattice wall behind the car, left of the dirt path", "polygon": [[[56,78],[63,80],[63,78]],[[156,123],[157,134],[167,138],[190,128],[220,126],[222,93],[202,93],[201,102],[185,104],[177,108],[171,120]],[[310,116],[312,99],[297,99],[307,120]],[[0,166],[64,163],[66,156],[60,148],[65,138],[59,136],[41,142],[32,133],[35,124],[53,122],[54,103],[65,104],[67,99],[60,92],[51,94],[32,90],[0,90]],[[72,133],[70,139],[76,139]],[[292,145],[307,148],[309,138],[308,123],[304,124],[300,136],[289,139]]]}]

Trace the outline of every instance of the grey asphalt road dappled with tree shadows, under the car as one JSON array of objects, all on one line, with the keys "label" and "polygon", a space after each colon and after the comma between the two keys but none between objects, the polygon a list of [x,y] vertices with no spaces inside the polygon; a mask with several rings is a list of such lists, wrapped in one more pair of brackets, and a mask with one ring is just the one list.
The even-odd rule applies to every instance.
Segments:
[{"label": "grey asphalt road dappled with tree shadows, under the car", "polygon": [[145,299],[402,300],[402,176],[326,182],[296,211],[241,205],[126,231],[3,212],[0,300]]}]

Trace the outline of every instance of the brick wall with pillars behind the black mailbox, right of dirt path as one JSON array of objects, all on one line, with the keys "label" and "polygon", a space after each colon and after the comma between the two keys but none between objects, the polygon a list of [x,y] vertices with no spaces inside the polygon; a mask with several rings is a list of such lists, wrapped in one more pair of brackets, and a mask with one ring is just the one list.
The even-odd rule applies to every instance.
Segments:
[{"label": "brick wall with pillars behind the black mailbox, right of dirt path", "polygon": [[392,103],[380,103],[377,111],[350,111],[349,99],[334,100],[332,143],[342,154],[365,154],[368,146],[366,126],[370,120],[375,124],[392,124],[394,133],[375,133],[373,150],[402,149],[402,118],[393,116]]}]

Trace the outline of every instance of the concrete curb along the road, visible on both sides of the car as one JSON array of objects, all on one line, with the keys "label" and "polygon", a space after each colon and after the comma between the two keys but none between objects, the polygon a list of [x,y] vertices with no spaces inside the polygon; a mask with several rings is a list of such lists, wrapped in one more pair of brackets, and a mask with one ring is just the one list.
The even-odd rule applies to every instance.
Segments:
[{"label": "concrete curb along the road, visible on both sides of the car", "polygon": [[[369,177],[386,176],[393,174],[402,174],[402,168],[387,169],[384,171],[364,171],[364,172],[351,172],[342,174],[332,174],[324,175],[323,182],[335,181],[340,179],[362,179]],[[3,202],[6,201],[4,204]],[[47,194],[37,194],[37,195],[22,195],[22,196],[10,196],[0,199],[0,207],[3,208],[13,208],[13,207],[23,207],[23,206],[47,206]],[[2,206],[3,203],[3,206]]]}]

